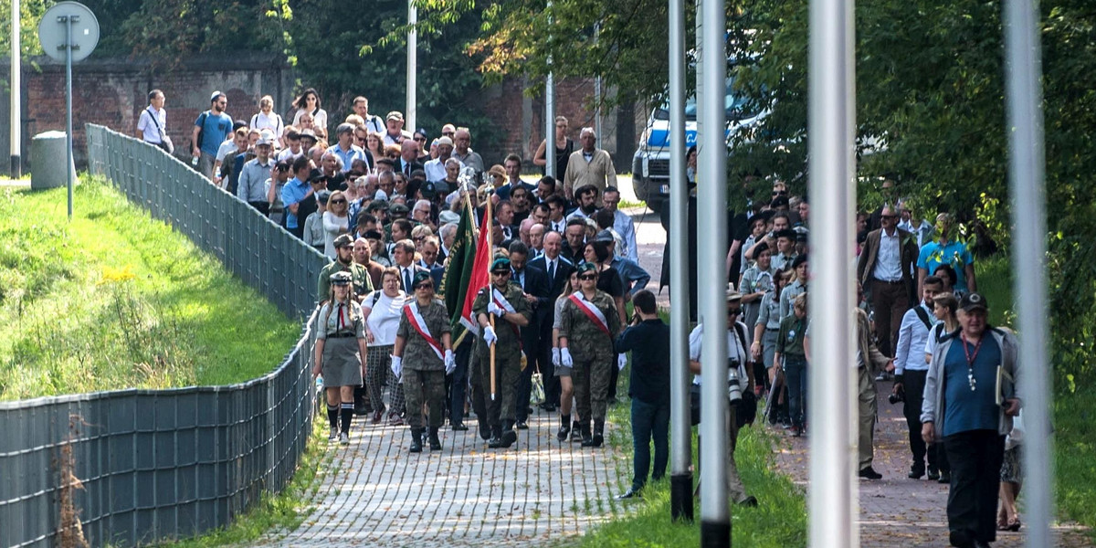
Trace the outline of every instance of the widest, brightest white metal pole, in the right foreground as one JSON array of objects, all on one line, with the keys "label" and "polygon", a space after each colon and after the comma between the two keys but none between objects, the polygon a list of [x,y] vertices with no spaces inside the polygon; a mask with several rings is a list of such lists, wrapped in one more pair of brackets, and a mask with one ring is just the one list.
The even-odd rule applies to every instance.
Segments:
[{"label": "widest, brightest white metal pole, in the right foreground", "polygon": [[[810,546],[845,548],[858,541],[854,507],[853,433],[853,186],[855,75],[852,0],[810,5],[811,354],[809,391]],[[854,446],[855,447],[855,446]]]}]

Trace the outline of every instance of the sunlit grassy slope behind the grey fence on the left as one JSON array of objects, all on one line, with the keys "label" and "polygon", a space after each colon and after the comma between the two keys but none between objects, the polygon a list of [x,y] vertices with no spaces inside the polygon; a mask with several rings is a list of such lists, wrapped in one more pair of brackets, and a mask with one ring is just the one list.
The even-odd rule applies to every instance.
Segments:
[{"label": "sunlit grassy slope behind the grey fence on the left", "polygon": [[0,399],[239,383],[272,370],[290,321],[102,181],[0,189]]}]

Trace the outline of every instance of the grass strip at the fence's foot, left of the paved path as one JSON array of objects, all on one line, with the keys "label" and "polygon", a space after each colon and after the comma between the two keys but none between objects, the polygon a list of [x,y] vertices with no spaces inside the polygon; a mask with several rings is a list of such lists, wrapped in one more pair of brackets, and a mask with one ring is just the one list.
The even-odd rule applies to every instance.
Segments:
[{"label": "grass strip at the fence's foot, left of the paved path", "polygon": [[333,473],[333,453],[327,452],[327,423],[312,422],[308,447],[300,456],[297,473],[276,496],[264,495],[258,504],[237,516],[228,527],[206,535],[157,546],[173,548],[209,548],[249,543],[271,530],[292,532],[308,518],[309,504],[320,494],[324,475]]}]

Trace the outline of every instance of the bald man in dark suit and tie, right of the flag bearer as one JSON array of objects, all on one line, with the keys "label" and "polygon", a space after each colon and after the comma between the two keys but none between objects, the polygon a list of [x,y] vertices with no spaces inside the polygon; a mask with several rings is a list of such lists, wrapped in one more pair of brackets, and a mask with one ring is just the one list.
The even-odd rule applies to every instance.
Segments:
[{"label": "bald man in dark suit and tie, right of the flag bearer", "polygon": [[547,411],[552,411],[559,406],[559,379],[556,378],[556,366],[551,363],[551,327],[555,323],[556,299],[567,287],[568,278],[574,265],[571,261],[560,254],[563,237],[559,232],[548,232],[545,235],[544,253],[529,261],[529,269],[536,269],[545,273],[548,279],[548,305],[534,310],[539,340],[543,342],[537,355],[537,364],[540,366],[540,374],[545,379],[545,404]]}]

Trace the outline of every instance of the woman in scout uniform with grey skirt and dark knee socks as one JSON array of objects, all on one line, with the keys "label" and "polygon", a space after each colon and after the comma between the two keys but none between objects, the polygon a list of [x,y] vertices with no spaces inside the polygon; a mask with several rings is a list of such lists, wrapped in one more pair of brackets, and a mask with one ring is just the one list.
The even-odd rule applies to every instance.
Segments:
[{"label": "woman in scout uniform with grey skirt and dark knee socks", "polygon": [[[351,299],[352,276],[349,272],[331,275],[331,295],[320,308],[316,333],[316,366],[312,378],[323,375],[328,396],[328,421],[331,435],[350,444],[350,421],[354,418],[354,388],[362,386],[366,355],[365,321],[357,302]],[[339,429],[340,415],[342,430]]]}]

